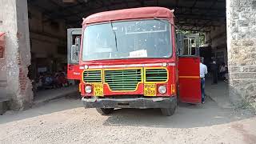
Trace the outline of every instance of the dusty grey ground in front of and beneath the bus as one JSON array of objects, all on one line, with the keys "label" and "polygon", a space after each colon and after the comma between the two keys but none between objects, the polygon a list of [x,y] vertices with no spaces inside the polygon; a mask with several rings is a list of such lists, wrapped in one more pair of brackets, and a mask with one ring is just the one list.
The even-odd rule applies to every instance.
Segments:
[{"label": "dusty grey ground in front of and beneath the bus", "polygon": [[0,116],[0,143],[256,143],[256,117],[204,105],[178,105],[171,117],[158,109],[115,110],[102,116],[74,97]]}]

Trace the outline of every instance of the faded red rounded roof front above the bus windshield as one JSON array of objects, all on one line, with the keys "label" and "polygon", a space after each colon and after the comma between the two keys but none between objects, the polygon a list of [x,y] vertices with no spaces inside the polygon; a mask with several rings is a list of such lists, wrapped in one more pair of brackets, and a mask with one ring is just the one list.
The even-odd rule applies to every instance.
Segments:
[{"label": "faded red rounded roof front above the bus windshield", "polygon": [[164,7],[141,7],[124,10],[106,11],[97,14],[92,14],[83,19],[82,24],[90,24],[96,22],[109,22],[125,19],[138,18],[173,18],[174,13]]}]

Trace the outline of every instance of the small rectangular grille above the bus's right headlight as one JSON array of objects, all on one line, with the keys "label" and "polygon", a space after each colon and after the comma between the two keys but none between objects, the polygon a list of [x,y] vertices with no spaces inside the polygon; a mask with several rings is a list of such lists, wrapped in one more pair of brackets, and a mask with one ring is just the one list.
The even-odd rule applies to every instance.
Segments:
[{"label": "small rectangular grille above the bus's right headlight", "polygon": [[146,82],[166,82],[166,69],[146,69]]}]

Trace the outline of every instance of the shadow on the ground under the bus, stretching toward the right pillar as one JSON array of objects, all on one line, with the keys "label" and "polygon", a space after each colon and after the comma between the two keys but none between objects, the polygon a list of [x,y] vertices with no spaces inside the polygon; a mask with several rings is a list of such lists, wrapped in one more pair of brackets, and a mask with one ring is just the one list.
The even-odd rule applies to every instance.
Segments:
[{"label": "shadow on the ground under the bus, stretching toward the right pillar", "polygon": [[171,117],[163,116],[159,109],[119,109],[103,123],[105,126],[149,126],[165,128],[192,128],[213,126],[253,117],[234,110],[221,109],[210,98],[204,105],[179,104]]}]

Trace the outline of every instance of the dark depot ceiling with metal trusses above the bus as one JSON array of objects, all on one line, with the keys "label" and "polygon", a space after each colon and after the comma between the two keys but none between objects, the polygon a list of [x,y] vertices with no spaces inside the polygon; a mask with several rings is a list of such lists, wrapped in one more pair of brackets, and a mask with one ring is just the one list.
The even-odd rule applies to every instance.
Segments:
[{"label": "dark depot ceiling with metal trusses above the bus", "polygon": [[[49,9],[46,7],[47,5],[38,5],[38,3],[42,3],[39,0],[28,0],[28,5],[37,7],[50,20],[65,20],[68,26],[81,26],[82,17],[101,12],[102,10],[116,10],[139,6],[164,6],[174,9],[176,25],[183,28],[186,27],[188,30],[207,30],[206,27],[220,26],[223,22],[226,22],[225,0],[210,0],[210,2],[194,0],[189,5],[184,5],[183,2],[189,2],[190,0],[166,0],[166,2],[159,0],[87,0],[86,2],[84,0],[77,0],[77,3],[64,5],[57,2],[57,0],[47,0],[44,3],[48,1],[51,6],[56,8]],[[164,3],[167,4],[163,5]],[[207,3],[208,6],[203,6],[203,3]],[[216,5],[217,3],[218,5]],[[221,3],[223,3],[223,6],[220,5]]]}]

